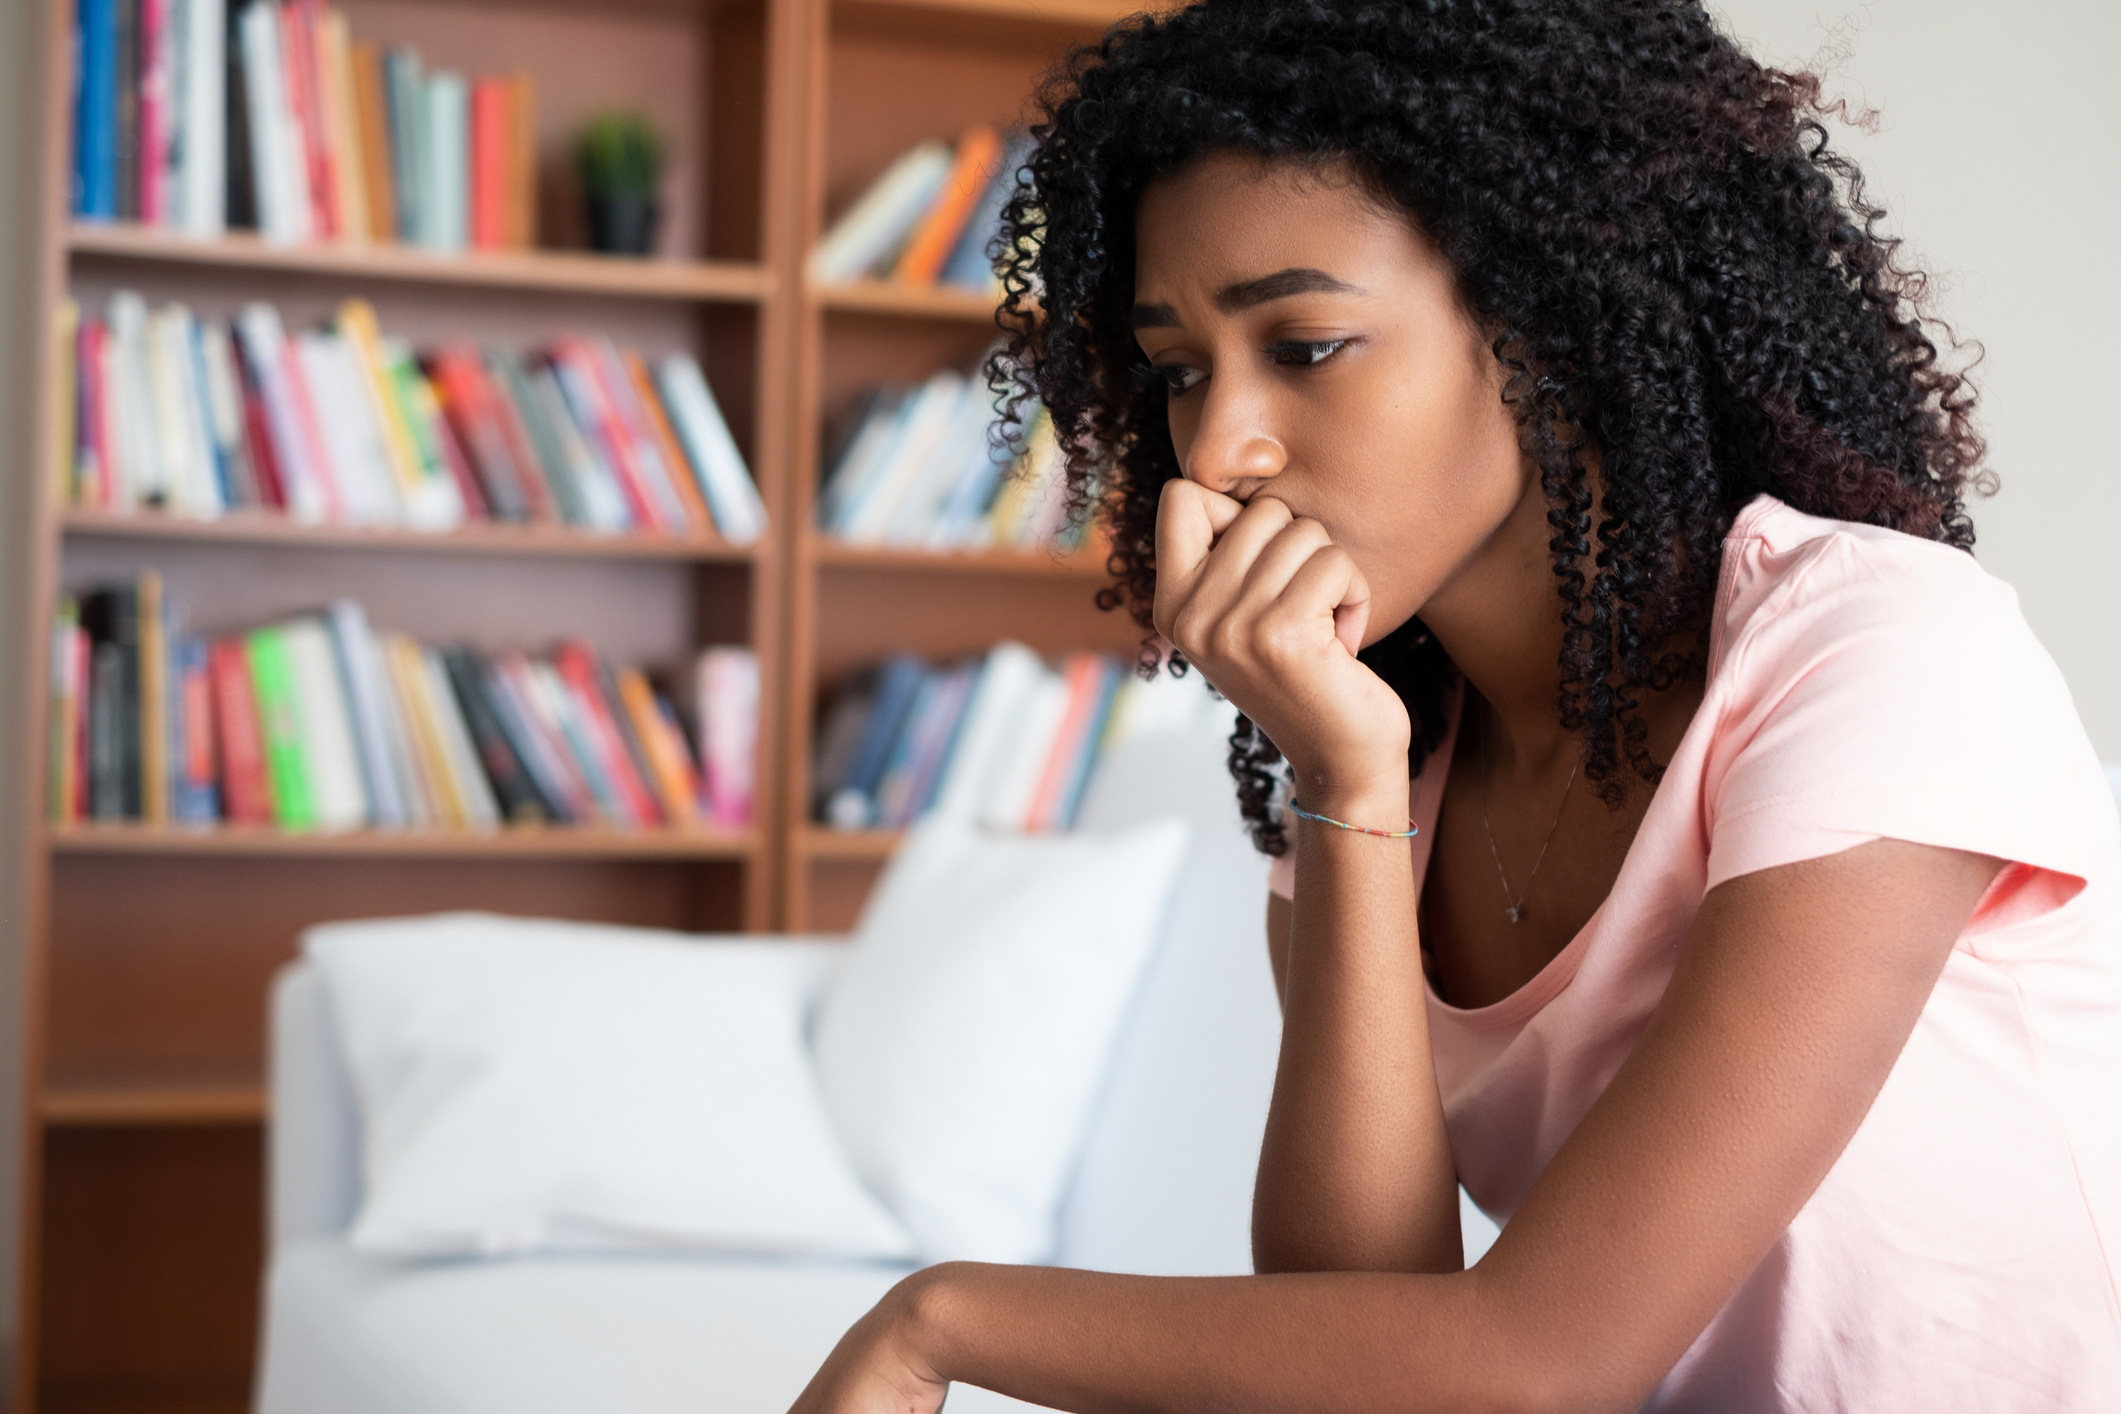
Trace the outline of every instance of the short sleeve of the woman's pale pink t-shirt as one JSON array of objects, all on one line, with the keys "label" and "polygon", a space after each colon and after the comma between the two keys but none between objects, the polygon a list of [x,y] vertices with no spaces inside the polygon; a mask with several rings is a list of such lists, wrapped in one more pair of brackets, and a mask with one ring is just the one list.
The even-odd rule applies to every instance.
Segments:
[{"label": "short sleeve of the woman's pale pink t-shirt", "polygon": [[2011,861],[2011,888],[2053,905],[2115,852],[2113,795],[2062,674],[1970,555],[1850,528],[1763,575],[1780,583],[1705,704],[1720,712],[1710,888],[1890,837]]}]

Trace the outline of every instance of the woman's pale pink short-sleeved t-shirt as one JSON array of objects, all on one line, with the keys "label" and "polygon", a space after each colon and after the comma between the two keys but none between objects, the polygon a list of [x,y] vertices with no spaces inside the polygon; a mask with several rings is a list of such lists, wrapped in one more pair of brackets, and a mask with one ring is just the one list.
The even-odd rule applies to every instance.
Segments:
[{"label": "woman's pale pink short-sleeved t-shirt", "polygon": [[[1466,1191],[1508,1221],[1716,884],[1879,837],[1994,854],[1871,1113],[1644,1410],[2121,1410],[2121,823],[2062,674],[1970,555],[1769,496],[1714,615],[1606,903],[1500,1003],[1427,996]],[[1417,886],[1449,759],[1415,778]]]}]

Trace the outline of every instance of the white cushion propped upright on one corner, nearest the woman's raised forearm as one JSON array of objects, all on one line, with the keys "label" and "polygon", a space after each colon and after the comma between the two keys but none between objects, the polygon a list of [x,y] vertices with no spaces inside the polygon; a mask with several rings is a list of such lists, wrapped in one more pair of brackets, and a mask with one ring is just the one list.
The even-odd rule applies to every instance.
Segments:
[{"label": "white cushion propped upright on one corner, nearest the woman's raised forearm", "polygon": [[819,1009],[819,1081],[855,1168],[931,1261],[1054,1255],[1188,833],[931,820],[878,880]]}]

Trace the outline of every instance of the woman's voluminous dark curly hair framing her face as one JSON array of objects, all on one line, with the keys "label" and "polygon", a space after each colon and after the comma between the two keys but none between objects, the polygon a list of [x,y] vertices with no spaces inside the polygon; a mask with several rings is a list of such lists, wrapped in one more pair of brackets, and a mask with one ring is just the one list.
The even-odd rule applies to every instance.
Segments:
[{"label": "woman's voluminous dark curly hair framing her face", "polygon": [[[1992,479],[1926,278],[1828,148],[1820,81],[1760,66],[1699,0],[1205,0],[1077,49],[1037,104],[988,377],[1050,409],[1075,509],[1111,532],[1101,602],[1145,630],[1179,464],[1128,329],[1135,208],[1211,151],[1349,159],[1451,261],[1542,475],[1561,723],[1610,803],[1623,761],[1661,774],[1637,695],[1705,670],[1722,536],[1754,494],[1973,545],[1964,498]],[[1449,657],[1417,619],[1364,661],[1406,702],[1419,770]],[[1230,772],[1270,854],[1279,761],[1239,719]]]}]

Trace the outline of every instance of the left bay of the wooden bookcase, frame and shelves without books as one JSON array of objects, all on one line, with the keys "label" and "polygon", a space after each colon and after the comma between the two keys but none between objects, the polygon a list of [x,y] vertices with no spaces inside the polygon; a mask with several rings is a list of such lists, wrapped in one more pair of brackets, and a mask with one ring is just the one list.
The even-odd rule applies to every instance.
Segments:
[{"label": "left bay of the wooden bookcase, frame and shelves without books", "polygon": [[[490,909],[691,931],[770,929],[783,859],[785,555],[795,303],[804,301],[797,155],[806,51],[825,0],[339,0],[356,38],[414,45],[469,74],[537,83],[541,242],[435,254],[397,244],[276,246],[89,225],[68,216],[72,0],[45,11],[42,299],[98,307],[136,288],[225,318],[276,303],[308,326],[369,299],[386,335],[431,348],[530,348],[566,331],[698,356],[757,477],[759,545],[566,526],[450,532],[112,515],[55,502],[49,466],[28,538],[36,623],[57,596],[144,566],[199,630],[369,606],[424,642],[541,647],[581,636],[615,664],[677,670],[711,642],[761,659],[759,818],[749,829],[282,833],[242,827],[45,823],[49,653],[11,664],[36,704],[28,753],[30,952],[21,1266],[13,1408],[246,1408],[263,1232],[265,998],[301,929],[356,916]],[[668,138],[653,259],[581,250],[564,199],[568,140],[602,108],[641,108]],[[554,178],[560,178],[558,182]],[[45,363],[45,358],[40,358]],[[51,445],[45,426],[11,443]],[[112,1302],[112,1293],[123,1293]]]}]

